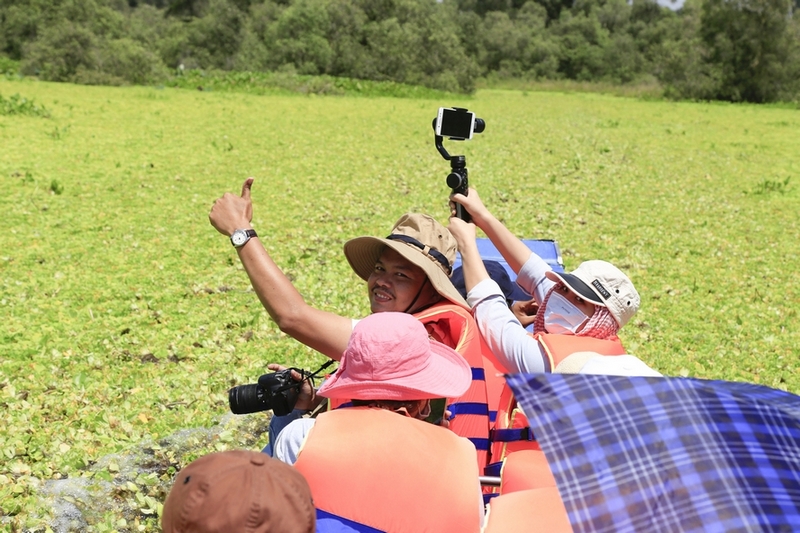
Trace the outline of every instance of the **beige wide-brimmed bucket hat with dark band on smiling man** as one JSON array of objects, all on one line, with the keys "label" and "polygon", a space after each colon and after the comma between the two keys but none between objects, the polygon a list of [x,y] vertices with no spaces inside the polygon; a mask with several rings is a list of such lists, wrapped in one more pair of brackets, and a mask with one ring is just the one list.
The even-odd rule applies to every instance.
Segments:
[{"label": "beige wide-brimmed bucket hat with dark band on smiling man", "polygon": [[458,245],[450,231],[433,217],[406,213],[385,239],[356,237],[344,243],[344,255],[353,271],[366,281],[386,247],[421,268],[436,292],[454,304],[469,309],[466,300],[450,281]]}]

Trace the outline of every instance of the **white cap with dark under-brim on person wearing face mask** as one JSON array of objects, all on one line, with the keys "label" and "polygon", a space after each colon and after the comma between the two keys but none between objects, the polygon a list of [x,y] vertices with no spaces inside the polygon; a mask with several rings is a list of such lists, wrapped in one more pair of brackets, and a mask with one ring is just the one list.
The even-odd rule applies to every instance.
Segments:
[{"label": "white cap with dark under-brim on person wearing face mask", "polygon": [[552,281],[560,281],[587,302],[607,307],[619,327],[639,310],[639,293],[620,269],[607,261],[584,261],[569,274],[549,270]]}]

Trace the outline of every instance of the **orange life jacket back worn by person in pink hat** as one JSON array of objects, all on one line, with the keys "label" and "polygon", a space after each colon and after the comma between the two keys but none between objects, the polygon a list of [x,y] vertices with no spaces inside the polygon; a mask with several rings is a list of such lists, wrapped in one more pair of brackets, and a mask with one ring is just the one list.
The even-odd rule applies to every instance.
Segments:
[{"label": "orange life jacket back worn by person in pink hat", "polygon": [[355,531],[480,531],[475,448],[433,424],[368,407],[322,413],[294,466],[311,487],[317,531],[326,520]]}]

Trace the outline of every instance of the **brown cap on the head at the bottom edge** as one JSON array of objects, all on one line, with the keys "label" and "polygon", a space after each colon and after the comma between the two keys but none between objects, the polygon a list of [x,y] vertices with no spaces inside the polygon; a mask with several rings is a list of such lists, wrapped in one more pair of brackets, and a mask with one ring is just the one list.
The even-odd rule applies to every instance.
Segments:
[{"label": "brown cap on the head at the bottom edge", "polygon": [[305,478],[260,452],[205,455],[181,470],[164,503],[164,533],[314,533]]}]

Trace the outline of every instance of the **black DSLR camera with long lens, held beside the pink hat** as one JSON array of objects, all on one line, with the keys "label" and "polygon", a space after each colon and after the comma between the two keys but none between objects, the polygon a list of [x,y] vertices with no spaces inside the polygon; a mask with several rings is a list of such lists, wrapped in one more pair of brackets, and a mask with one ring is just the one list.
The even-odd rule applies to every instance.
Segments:
[{"label": "black DSLR camera with long lens, held beside the pink hat", "polygon": [[[303,382],[310,380],[312,385],[314,377],[332,365],[328,361],[313,374],[299,368],[287,368],[271,374],[264,374],[258,378],[258,383],[239,385],[228,390],[228,404],[231,412],[236,415],[246,415],[272,409],[276,416],[288,415],[294,409]],[[298,372],[303,379],[295,381],[292,370]]]}]

